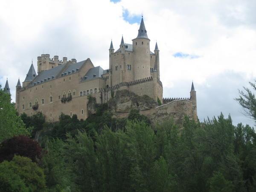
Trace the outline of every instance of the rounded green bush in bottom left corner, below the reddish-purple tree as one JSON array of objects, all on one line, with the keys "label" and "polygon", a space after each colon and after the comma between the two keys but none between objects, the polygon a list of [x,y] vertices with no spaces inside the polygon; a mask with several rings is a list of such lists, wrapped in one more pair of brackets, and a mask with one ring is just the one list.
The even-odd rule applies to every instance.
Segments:
[{"label": "rounded green bush in bottom left corner, below the reddish-purple tree", "polygon": [[0,191],[43,192],[46,190],[44,172],[27,157],[15,156],[0,163]]}]

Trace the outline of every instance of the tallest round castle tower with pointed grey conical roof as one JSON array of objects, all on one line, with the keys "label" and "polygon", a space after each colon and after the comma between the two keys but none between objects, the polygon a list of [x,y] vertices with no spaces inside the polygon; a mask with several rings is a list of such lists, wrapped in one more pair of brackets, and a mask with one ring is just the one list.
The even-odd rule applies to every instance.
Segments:
[{"label": "tallest round castle tower with pointed grey conical roof", "polygon": [[134,52],[134,80],[150,77],[150,39],[143,21],[140,22],[137,38],[132,40]]}]

